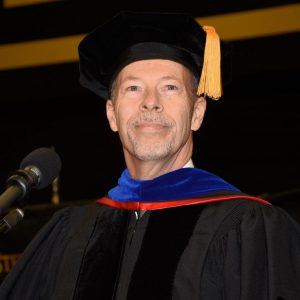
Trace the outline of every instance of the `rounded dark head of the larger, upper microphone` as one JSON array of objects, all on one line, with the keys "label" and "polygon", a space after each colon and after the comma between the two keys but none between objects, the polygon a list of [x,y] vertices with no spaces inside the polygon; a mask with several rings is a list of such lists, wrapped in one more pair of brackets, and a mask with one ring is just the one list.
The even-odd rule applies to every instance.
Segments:
[{"label": "rounded dark head of the larger, upper microphone", "polygon": [[58,154],[50,148],[38,148],[30,152],[21,162],[20,168],[32,168],[39,177],[39,182],[34,186],[43,189],[50,185],[59,175],[61,159]]}]

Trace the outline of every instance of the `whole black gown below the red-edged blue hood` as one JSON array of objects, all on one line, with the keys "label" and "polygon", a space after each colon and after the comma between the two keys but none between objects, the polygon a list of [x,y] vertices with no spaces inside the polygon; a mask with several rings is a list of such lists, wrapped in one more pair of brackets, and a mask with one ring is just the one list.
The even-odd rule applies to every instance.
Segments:
[{"label": "whole black gown below the red-edged blue hood", "polygon": [[4,300],[299,300],[300,227],[236,199],[146,212],[55,213],[0,287]]}]

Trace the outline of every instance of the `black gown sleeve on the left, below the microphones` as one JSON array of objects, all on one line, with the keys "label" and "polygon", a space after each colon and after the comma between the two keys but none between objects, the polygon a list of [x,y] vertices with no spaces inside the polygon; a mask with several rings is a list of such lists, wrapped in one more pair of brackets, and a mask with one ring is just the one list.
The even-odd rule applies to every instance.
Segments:
[{"label": "black gown sleeve on the left, below the microphones", "polygon": [[[78,274],[79,257],[85,245],[80,231],[74,226],[80,219],[79,213],[78,209],[64,208],[53,215],[2,282],[0,299],[69,299],[56,295],[55,287],[60,282],[60,286],[64,285],[65,295],[69,295],[76,282],[76,278],[70,278],[68,274]],[[78,259],[66,254],[74,252],[78,253]]]}]

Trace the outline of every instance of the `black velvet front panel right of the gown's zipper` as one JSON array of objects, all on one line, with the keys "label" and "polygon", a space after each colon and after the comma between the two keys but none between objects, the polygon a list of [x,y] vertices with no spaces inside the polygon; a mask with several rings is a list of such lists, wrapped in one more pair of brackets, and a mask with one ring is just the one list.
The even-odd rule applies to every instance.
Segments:
[{"label": "black velvet front panel right of the gown's zipper", "polygon": [[177,264],[204,207],[186,206],[151,213],[128,299],[141,299],[141,295],[143,300],[172,299]]}]

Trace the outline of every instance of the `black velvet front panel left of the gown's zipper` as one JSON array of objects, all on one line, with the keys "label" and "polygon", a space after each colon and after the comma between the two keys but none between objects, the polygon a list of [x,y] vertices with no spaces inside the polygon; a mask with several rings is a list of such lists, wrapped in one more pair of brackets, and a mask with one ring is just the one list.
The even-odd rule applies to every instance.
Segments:
[{"label": "black velvet front panel left of the gown's zipper", "polygon": [[128,211],[109,210],[98,216],[84,253],[74,300],[109,300],[121,263]]}]

